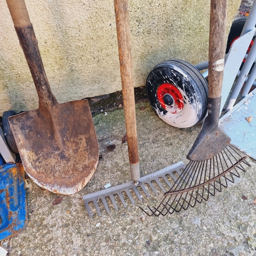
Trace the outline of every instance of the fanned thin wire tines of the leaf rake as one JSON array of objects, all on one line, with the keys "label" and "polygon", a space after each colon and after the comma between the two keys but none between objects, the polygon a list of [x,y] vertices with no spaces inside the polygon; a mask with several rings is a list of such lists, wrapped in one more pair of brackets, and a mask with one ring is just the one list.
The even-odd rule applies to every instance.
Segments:
[{"label": "fanned thin wire tines of the leaf rake", "polygon": [[240,177],[239,170],[245,172],[243,164],[250,166],[245,158],[228,145],[209,160],[190,161],[157,207],[147,206],[149,212],[140,208],[148,216],[165,216],[186,210],[188,206],[194,207],[197,202],[207,201],[209,195],[215,196],[216,191],[221,192],[222,188],[227,187],[228,181],[233,183],[235,177]]}]

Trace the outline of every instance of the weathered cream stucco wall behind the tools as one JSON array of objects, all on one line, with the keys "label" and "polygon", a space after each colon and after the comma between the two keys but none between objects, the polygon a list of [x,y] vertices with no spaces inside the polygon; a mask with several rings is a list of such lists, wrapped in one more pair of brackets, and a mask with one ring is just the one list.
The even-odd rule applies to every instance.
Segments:
[{"label": "weathered cream stucco wall behind the tools", "polygon": [[[135,87],[160,61],[207,60],[209,0],[131,0]],[[228,28],[240,5],[229,0]],[[27,0],[41,57],[59,102],[121,90],[113,0]],[[0,114],[38,98],[5,1],[0,2]]]}]

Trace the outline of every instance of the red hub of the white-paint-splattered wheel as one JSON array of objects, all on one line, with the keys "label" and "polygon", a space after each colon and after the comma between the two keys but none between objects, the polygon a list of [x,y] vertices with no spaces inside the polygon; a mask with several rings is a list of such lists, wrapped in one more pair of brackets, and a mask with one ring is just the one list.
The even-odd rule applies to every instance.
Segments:
[{"label": "red hub of the white-paint-splattered wheel", "polygon": [[[167,95],[170,96],[170,98],[172,98],[172,100],[170,101],[173,102],[172,104],[168,104],[166,102]],[[159,86],[157,89],[157,97],[161,106],[165,110],[171,111],[173,114],[181,112],[181,110],[184,107],[184,100],[182,94],[175,86],[173,86],[173,84],[161,84],[161,86]]]}]

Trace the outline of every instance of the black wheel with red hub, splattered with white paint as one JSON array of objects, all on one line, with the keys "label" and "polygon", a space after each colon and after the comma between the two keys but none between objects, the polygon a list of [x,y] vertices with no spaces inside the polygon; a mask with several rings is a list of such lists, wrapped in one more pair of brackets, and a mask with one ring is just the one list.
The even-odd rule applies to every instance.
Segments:
[{"label": "black wheel with red hub, splattered with white paint", "polygon": [[206,115],[208,84],[186,61],[160,62],[147,77],[146,92],[157,115],[174,127],[191,127]]}]

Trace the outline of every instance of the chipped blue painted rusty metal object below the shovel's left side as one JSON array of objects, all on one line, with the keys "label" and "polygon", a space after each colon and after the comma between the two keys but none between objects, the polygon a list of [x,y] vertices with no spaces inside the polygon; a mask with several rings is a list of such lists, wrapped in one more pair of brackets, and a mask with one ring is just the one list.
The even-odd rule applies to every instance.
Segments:
[{"label": "chipped blue painted rusty metal object below the shovel's left side", "polygon": [[0,167],[0,241],[16,236],[27,224],[24,167],[4,164]]}]

